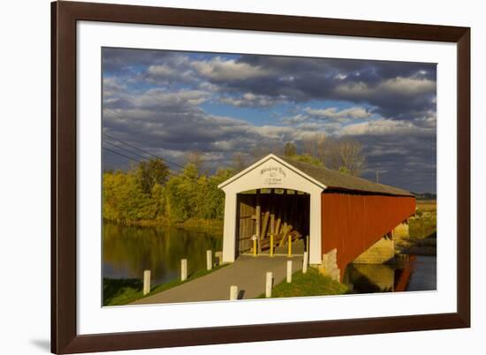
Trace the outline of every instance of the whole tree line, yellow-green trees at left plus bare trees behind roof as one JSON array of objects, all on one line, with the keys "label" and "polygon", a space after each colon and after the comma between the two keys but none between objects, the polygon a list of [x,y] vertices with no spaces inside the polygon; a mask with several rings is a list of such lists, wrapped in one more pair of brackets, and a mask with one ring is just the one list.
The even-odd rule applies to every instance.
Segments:
[{"label": "whole tree line, yellow-green trees at left plus bare trees behind roof", "polygon": [[323,165],[359,175],[365,158],[355,140],[325,140],[316,134],[304,140],[301,151],[292,142],[280,147],[260,146],[252,156],[235,154],[232,166],[214,174],[201,172],[201,154],[191,152],[177,174],[162,159],[133,165],[129,170],[103,172],[103,218],[116,223],[183,223],[187,220],[222,220],[224,193],[217,185],[262,155],[276,153],[300,162]]}]

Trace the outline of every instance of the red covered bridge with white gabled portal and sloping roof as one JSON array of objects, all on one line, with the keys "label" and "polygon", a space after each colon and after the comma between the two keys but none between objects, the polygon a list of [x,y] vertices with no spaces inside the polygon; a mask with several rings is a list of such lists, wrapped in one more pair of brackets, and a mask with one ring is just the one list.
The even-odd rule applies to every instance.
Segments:
[{"label": "red covered bridge with white gabled portal and sloping roof", "polygon": [[225,193],[224,262],[251,253],[254,239],[261,252],[270,235],[275,245],[301,238],[310,264],[332,253],[342,276],[415,211],[414,195],[405,190],[272,154],[218,187]]}]

